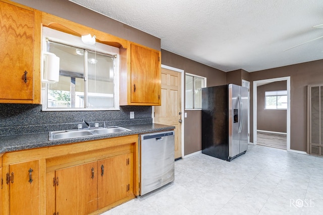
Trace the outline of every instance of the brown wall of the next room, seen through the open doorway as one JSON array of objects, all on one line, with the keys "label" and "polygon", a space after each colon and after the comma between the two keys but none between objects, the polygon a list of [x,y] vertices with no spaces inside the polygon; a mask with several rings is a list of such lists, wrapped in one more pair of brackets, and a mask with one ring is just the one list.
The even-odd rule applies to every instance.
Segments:
[{"label": "brown wall of the next room, seen through the open doorway", "polygon": [[286,81],[257,87],[257,130],[287,132],[287,110],[265,109],[265,91],[286,90]]}]

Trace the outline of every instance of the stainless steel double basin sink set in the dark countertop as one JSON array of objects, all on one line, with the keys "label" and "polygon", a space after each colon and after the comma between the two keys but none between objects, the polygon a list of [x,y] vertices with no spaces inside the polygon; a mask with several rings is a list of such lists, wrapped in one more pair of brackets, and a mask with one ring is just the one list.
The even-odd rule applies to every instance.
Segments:
[{"label": "stainless steel double basin sink set in the dark countertop", "polygon": [[111,126],[105,128],[89,128],[89,129],[79,129],[79,130],[60,130],[60,131],[49,131],[49,140],[56,139],[68,139],[74,137],[84,137],[84,136],[94,136],[100,134],[111,134],[123,131],[130,131],[130,129]]}]

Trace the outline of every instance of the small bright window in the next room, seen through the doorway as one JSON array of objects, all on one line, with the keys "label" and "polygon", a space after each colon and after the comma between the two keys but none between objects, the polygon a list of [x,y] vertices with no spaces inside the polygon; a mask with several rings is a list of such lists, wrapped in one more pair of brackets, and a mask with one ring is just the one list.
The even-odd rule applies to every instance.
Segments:
[{"label": "small bright window in the next room, seen through the doorway", "polygon": [[266,91],[265,109],[287,109],[287,91]]}]

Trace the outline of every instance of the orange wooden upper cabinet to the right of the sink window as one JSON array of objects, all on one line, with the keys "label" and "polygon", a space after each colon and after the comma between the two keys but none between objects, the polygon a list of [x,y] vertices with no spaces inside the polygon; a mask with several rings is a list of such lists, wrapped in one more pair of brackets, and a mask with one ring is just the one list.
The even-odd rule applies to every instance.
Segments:
[{"label": "orange wooden upper cabinet to the right of the sink window", "polygon": [[128,68],[120,71],[120,105],[160,105],[160,51],[135,43],[128,48]]}]

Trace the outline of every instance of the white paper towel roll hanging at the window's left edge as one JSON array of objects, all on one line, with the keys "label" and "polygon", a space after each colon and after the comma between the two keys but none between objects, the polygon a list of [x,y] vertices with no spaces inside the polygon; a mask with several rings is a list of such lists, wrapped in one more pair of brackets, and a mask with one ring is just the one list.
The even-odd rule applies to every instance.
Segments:
[{"label": "white paper towel roll hanging at the window's left edge", "polygon": [[60,58],[54,53],[43,52],[42,83],[55,83],[60,77]]}]

